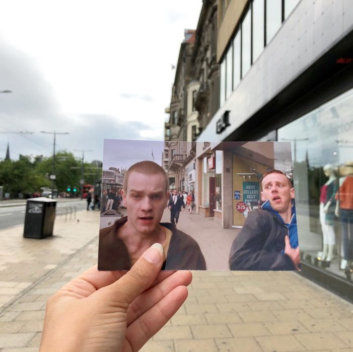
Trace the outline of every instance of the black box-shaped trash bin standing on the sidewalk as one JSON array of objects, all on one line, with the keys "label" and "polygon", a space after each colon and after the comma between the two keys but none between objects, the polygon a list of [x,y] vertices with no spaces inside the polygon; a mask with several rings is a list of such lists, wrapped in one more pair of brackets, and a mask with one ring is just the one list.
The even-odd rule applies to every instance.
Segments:
[{"label": "black box-shaped trash bin standing on the sidewalk", "polygon": [[27,200],[23,237],[44,238],[53,234],[56,200],[39,197]]}]

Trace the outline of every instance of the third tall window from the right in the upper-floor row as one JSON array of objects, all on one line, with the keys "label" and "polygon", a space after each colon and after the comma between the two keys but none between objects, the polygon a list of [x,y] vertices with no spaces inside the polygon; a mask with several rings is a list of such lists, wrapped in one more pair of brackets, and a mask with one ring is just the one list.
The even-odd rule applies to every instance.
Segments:
[{"label": "third tall window from the right in the upper-floor row", "polygon": [[264,47],[264,0],[252,3],[252,62],[260,56]]}]

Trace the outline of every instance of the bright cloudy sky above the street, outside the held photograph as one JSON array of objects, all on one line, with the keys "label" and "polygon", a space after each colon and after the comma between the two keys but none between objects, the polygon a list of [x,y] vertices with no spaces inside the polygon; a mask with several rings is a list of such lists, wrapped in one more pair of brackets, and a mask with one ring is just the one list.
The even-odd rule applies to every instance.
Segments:
[{"label": "bright cloudy sky above the street, outside the held photograph", "polygon": [[[0,160],[163,140],[184,29],[202,0],[11,0],[0,12]],[[33,134],[11,132],[29,131]],[[6,133],[3,133],[6,132]],[[74,152],[81,156],[82,152]]]}]

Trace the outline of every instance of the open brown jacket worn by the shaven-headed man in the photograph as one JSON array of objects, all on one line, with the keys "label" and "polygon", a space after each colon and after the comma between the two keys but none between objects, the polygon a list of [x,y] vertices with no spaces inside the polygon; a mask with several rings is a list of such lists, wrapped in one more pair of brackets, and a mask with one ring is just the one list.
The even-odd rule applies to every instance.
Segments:
[{"label": "open brown jacket worn by the shaven-headed man in the photograph", "polygon": [[[98,270],[129,270],[130,257],[127,248],[117,236],[117,230],[127,221],[127,216],[114,225],[99,231]],[[162,270],[206,270],[206,263],[197,242],[179,231],[171,223],[161,223],[172,231],[167,260]]]}]

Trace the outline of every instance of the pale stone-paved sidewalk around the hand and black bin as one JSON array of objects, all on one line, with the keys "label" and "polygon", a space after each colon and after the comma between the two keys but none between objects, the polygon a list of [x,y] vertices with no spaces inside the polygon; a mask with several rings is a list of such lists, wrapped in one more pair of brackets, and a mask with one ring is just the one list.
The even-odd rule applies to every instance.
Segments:
[{"label": "pale stone-paved sidewalk around the hand and black bin", "polygon": [[[56,219],[54,236],[43,240],[23,238],[23,226],[0,231],[1,352],[38,350],[47,298],[97,262],[98,216]],[[229,235],[192,216],[194,225]],[[142,351],[353,351],[353,305],[296,273],[193,277],[185,304]]]}]

